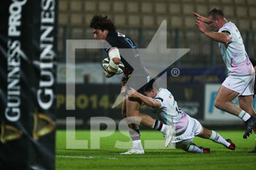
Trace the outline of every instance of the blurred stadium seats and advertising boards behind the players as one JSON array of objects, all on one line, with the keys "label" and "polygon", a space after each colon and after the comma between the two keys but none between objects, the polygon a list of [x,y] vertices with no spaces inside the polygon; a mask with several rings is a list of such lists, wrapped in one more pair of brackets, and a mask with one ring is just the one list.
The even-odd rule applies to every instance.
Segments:
[{"label": "blurred stadium seats and advertising boards behind the players", "polygon": [[[65,109],[65,40],[93,39],[89,23],[95,13],[100,13],[108,15],[116,24],[117,31],[130,36],[141,48],[147,47],[162,20],[167,20],[167,47],[190,49],[167,69],[167,88],[181,109],[206,126],[223,128],[225,124],[243,129],[241,120],[214,107],[217,90],[226,77],[225,65],[217,42],[197,30],[195,17],[191,13],[194,11],[207,16],[214,7],[222,9],[227,20],[238,26],[248,55],[255,58],[254,0],[59,0],[57,124],[65,125],[67,116],[75,116],[81,128],[89,128],[89,118],[94,116],[121,119],[120,106],[111,109],[121,88],[120,76],[105,78],[100,62],[107,55],[99,49],[76,50],[76,109]],[[173,68],[180,70],[178,77],[170,74]],[[238,104],[237,100],[234,102]],[[255,101],[253,105],[255,107]],[[148,112],[148,109],[143,107],[141,112]]]}]

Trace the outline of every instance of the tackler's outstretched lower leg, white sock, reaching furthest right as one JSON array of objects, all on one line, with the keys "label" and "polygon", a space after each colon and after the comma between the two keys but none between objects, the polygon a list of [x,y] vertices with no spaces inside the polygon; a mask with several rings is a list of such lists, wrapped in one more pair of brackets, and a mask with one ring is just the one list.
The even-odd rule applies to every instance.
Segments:
[{"label": "tackler's outstretched lower leg, white sock, reaching furthest right", "polygon": [[[203,127],[203,126],[202,126]],[[221,135],[219,135],[216,131],[208,130],[207,128],[202,128],[200,134],[197,136],[203,139],[211,139],[213,142],[224,145],[230,150],[235,150],[236,145],[230,139],[224,139]]]}]

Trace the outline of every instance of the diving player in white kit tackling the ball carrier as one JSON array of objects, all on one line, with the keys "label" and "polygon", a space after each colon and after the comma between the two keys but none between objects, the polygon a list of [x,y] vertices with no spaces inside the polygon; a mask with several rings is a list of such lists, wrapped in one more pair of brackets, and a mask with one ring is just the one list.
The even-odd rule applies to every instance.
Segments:
[{"label": "diving player in white kit tackling the ball carrier", "polygon": [[204,139],[211,139],[230,150],[236,149],[236,145],[230,139],[225,140],[216,131],[203,128],[197,120],[183,112],[169,90],[155,86],[153,88],[153,83],[154,81],[148,83],[145,90],[146,96],[132,88],[128,90],[128,95],[133,98],[140,98],[148,107],[153,107],[157,116],[162,118],[163,123],[173,126],[175,132],[173,131],[171,142],[174,147],[187,152],[210,152],[209,148],[197,147],[196,144],[192,143],[194,137],[199,136]]}]

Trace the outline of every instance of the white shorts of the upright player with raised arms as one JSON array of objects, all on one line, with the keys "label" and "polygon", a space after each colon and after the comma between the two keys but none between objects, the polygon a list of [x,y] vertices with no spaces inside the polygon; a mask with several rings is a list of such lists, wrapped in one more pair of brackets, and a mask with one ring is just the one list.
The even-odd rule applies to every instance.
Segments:
[{"label": "white shorts of the upright player with raised arms", "polygon": [[222,85],[239,93],[238,96],[250,96],[254,94],[255,74],[249,76],[229,75]]}]

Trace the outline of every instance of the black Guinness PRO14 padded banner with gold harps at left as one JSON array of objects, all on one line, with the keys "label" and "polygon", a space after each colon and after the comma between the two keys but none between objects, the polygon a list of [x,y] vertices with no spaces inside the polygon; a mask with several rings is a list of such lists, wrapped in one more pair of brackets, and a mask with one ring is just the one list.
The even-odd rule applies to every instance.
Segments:
[{"label": "black Guinness PRO14 padded banner with gold harps at left", "polygon": [[55,169],[57,7],[0,1],[0,169]]}]

